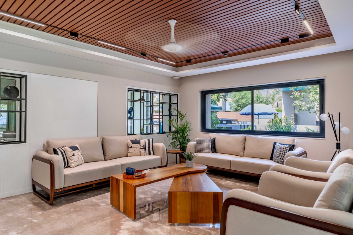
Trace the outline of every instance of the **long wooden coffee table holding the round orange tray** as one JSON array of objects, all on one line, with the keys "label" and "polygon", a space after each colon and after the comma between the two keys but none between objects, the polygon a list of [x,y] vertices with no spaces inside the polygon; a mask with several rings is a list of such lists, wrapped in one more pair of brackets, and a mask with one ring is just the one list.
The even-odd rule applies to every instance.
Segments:
[{"label": "long wooden coffee table holding the round orange tray", "polygon": [[194,167],[185,167],[177,164],[173,167],[151,169],[147,177],[142,179],[125,179],[122,174],[110,176],[110,204],[131,219],[136,219],[136,188],[166,180],[180,175],[203,173],[207,166],[194,164]]}]

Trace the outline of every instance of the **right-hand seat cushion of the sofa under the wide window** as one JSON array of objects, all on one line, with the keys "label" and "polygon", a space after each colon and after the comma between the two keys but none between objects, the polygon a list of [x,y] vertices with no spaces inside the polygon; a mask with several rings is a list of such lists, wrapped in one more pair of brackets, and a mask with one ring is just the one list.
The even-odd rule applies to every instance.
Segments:
[{"label": "right-hand seat cushion of the sofa under the wide window", "polygon": [[231,160],[231,169],[234,171],[249,172],[261,175],[268,171],[271,166],[281,165],[269,159],[255,157],[240,157]]}]

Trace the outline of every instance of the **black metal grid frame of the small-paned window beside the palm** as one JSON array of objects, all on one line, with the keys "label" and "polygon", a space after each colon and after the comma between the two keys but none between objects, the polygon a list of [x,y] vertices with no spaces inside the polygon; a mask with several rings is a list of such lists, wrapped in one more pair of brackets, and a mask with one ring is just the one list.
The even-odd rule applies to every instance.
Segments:
[{"label": "black metal grid frame of the small-paned window beside the palm", "polygon": [[[130,107],[130,105],[129,105],[129,102],[139,102],[139,100],[134,100],[134,99],[129,99],[129,97],[128,97],[128,93],[129,93],[129,91],[140,91],[140,92],[144,92],[144,93],[150,93],[150,95],[151,95],[151,104],[153,104],[154,102],[153,102],[153,94],[159,94],[160,96],[161,95],[169,95],[169,96],[171,96],[171,95],[176,95],[177,96],[177,103],[172,103],[171,101],[170,101],[170,99],[169,99],[169,103],[167,103],[167,102],[161,102],[161,99],[159,99],[158,100],[158,107],[160,107],[161,106],[161,104],[175,104],[176,106],[177,106],[177,110],[179,111],[179,93],[173,93],[173,92],[166,92],[166,91],[158,91],[158,90],[152,90],[152,89],[145,89],[145,88],[137,88],[137,87],[130,87],[130,86],[127,86],[127,89],[126,89],[126,97],[127,97],[127,99],[126,99],[126,104],[127,104],[127,109],[129,109],[129,107]],[[134,96],[134,95],[133,95]],[[155,106],[155,105],[152,105],[152,106]],[[146,118],[142,118],[142,110],[140,110],[140,118],[136,118],[136,120],[140,120],[140,128],[141,128],[141,126],[143,125],[142,123],[143,123],[143,120],[145,120]],[[162,114],[161,114],[162,113]],[[141,134],[140,132],[138,133],[138,134],[134,134],[134,130],[135,130],[135,127],[134,127],[134,125],[133,125],[133,131],[132,131],[132,133],[129,133],[129,125],[128,125],[128,121],[129,120],[135,120],[135,118],[134,119],[129,119],[128,118],[128,114],[127,114],[127,116],[126,116],[126,134],[127,135],[138,135],[138,134],[140,134],[140,135],[158,135],[158,134],[165,134],[165,133],[168,133],[168,132],[170,132],[171,131],[171,126],[169,126],[169,131],[167,132],[163,132],[163,130],[162,130],[162,132],[160,132],[160,131],[158,131],[158,132],[150,132],[150,133],[146,133],[146,132],[144,132],[143,134]],[[163,120],[163,116],[169,116],[169,115],[163,115],[163,111],[160,111],[160,115],[159,115],[159,117],[161,118],[162,117],[162,120]],[[169,116],[169,118],[170,117],[176,117],[176,118],[178,118],[178,115],[172,115],[172,116]],[[159,126],[159,130],[160,130],[160,124],[158,124],[158,126]],[[152,128],[150,128],[150,130],[152,130]]]}]

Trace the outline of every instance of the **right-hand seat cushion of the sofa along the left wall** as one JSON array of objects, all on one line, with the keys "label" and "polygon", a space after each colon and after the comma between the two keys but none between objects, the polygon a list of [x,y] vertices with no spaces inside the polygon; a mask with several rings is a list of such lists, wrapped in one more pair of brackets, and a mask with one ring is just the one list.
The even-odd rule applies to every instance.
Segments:
[{"label": "right-hand seat cushion of the sofa along the left wall", "polygon": [[121,169],[123,172],[125,171],[126,167],[132,167],[138,170],[145,170],[162,166],[161,157],[157,155],[119,157],[110,161],[119,162],[121,164]]}]

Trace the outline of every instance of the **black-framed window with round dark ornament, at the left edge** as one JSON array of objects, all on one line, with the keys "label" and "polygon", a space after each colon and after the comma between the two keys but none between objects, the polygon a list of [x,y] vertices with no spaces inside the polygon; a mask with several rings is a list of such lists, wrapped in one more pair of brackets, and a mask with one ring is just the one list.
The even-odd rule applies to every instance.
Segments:
[{"label": "black-framed window with round dark ornament, at the left edge", "polygon": [[0,74],[0,144],[25,143],[27,76]]}]

